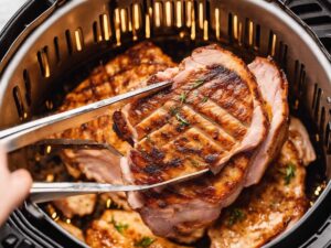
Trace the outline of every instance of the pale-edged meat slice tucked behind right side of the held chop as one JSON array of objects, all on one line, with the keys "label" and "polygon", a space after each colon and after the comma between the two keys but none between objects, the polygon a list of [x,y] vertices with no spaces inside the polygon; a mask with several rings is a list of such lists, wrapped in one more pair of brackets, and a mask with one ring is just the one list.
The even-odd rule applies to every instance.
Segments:
[{"label": "pale-edged meat slice tucked behind right side of the held chop", "polygon": [[288,82],[285,74],[271,58],[257,57],[248,68],[255,75],[265,100],[270,127],[266,140],[254,155],[245,186],[258,183],[269,163],[279,153],[287,139],[289,120]]}]

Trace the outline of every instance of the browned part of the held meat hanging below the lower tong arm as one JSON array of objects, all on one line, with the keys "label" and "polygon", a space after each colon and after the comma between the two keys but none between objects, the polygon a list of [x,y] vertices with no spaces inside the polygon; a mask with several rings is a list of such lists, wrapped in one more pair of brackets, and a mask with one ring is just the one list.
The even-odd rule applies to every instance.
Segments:
[{"label": "browned part of the held meat hanging below the lower tong arm", "polygon": [[128,202],[156,235],[193,242],[220,216],[221,209],[236,200],[249,159],[249,154],[238,154],[217,175],[204,175],[161,192],[129,193]]}]

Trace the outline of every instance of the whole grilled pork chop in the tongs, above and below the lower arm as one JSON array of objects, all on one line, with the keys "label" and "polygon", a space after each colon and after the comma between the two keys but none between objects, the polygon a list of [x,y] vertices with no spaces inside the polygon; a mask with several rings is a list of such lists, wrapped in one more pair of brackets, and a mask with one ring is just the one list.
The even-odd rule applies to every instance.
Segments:
[{"label": "whole grilled pork chop in the tongs, above and below the lower arm", "polygon": [[[210,65],[204,64],[204,56],[209,56]],[[213,61],[213,56],[221,57],[221,60]],[[221,67],[217,62],[222,64]],[[201,64],[199,64],[194,67],[193,63],[201,63],[203,66],[201,68],[199,67]],[[226,65],[235,71],[223,67]],[[235,68],[235,66],[237,67]],[[196,67],[197,72],[195,72]],[[241,72],[245,76],[245,80],[235,72]],[[172,89],[131,103],[114,118],[121,134],[125,133],[125,137],[136,141],[136,149],[129,153],[129,164],[124,161],[122,166],[124,177],[130,183],[157,182],[160,177],[164,180],[173,173],[173,170],[175,173],[186,170],[186,168],[189,168],[186,171],[200,170],[209,164],[216,164],[220,159],[222,160],[224,152],[233,152],[232,158],[217,175],[209,174],[194,181],[168,186],[160,192],[128,194],[129,204],[140,213],[143,222],[156,235],[192,242],[203,235],[203,229],[218,217],[223,207],[235,201],[245,182],[252,152],[235,154],[235,149],[246,142],[243,140],[247,137],[244,134],[241,143],[236,141],[236,139],[241,140],[241,134],[235,136],[234,132],[233,136],[229,134],[231,125],[236,128],[238,128],[238,123],[243,125],[239,121],[234,122],[234,116],[237,115],[242,121],[246,118],[246,126],[242,126],[246,127],[244,133],[249,133],[250,126],[253,129],[259,128],[259,130],[253,131],[256,136],[255,139],[260,139],[259,136],[265,134],[266,118],[259,105],[259,97],[256,96],[254,99],[254,94],[244,84],[253,77],[243,62],[217,46],[196,50],[191,57],[181,63],[179,72],[172,68],[170,74],[175,85]],[[192,74],[194,84],[196,84],[196,78],[205,78],[205,82],[200,79],[199,84],[201,85],[193,87],[193,90]],[[169,79],[167,76],[168,72],[166,71],[151,79]],[[189,78],[188,83],[184,82],[185,78]],[[179,100],[182,93],[185,94],[185,100]],[[243,97],[239,98],[241,95]],[[202,100],[204,98],[206,100]],[[245,109],[247,103],[249,103],[248,110]],[[258,106],[257,110],[254,108],[256,105]],[[179,107],[173,116],[168,111],[173,110],[172,107]],[[236,111],[235,109],[238,108],[242,109]],[[164,109],[167,110],[164,111]],[[233,110],[234,114],[226,114],[225,109],[229,112]],[[260,114],[256,114],[256,111],[260,111]],[[139,121],[138,117],[141,116],[143,116],[142,121]],[[190,125],[179,123],[179,117]],[[164,120],[167,123],[163,123]],[[134,126],[136,130],[132,130]],[[145,134],[141,133],[149,127],[151,127],[149,130],[151,133],[143,137]],[[232,137],[233,143],[227,142],[228,137]],[[255,142],[254,139],[250,141]],[[250,143],[250,145],[253,144]],[[220,147],[222,150],[218,150]],[[169,155],[177,159],[177,164],[163,163],[162,160]],[[150,160],[151,164],[145,166],[147,160]],[[154,165],[154,163],[158,164]],[[154,168],[152,168],[153,165]],[[132,177],[135,181],[131,180]]]}]

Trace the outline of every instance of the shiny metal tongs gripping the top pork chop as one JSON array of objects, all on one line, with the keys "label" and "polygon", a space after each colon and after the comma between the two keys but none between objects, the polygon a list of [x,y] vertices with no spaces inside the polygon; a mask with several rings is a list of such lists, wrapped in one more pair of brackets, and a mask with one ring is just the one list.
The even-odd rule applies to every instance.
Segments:
[{"label": "shiny metal tongs gripping the top pork chop", "polygon": [[[151,94],[170,86],[172,82],[161,82],[140,89],[136,89],[122,95],[96,101],[79,108],[68,111],[60,112],[53,116],[44,117],[33,120],[13,128],[0,131],[0,144],[4,147],[7,152],[12,152],[25,145],[43,140],[56,132],[64,131],[70,128],[77,127],[82,123],[88,122],[105,114],[105,110],[110,105],[134,98],[136,96],[143,96]],[[77,141],[78,143],[79,141]],[[71,142],[75,143],[75,141]],[[97,144],[97,143],[94,143]],[[115,148],[108,147],[108,150],[118,158],[120,153]],[[73,195],[106,193],[106,192],[130,192],[130,191],[146,191],[153,187],[164,186],[170,183],[178,183],[201,175],[209,170],[202,170],[195,173],[186,174],[169,181],[164,181],[150,185],[113,185],[105,183],[33,183],[30,191],[30,198],[34,203],[49,202],[57,198],[63,198]]]}]

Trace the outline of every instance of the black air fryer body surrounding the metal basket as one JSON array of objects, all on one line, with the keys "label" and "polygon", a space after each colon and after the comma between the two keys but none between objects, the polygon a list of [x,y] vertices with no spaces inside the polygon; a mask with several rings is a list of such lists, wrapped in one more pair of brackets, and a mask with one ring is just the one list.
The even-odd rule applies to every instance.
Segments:
[{"label": "black air fryer body surrounding the metal basket", "polygon": [[[257,0],[258,1],[258,0]],[[285,7],[292,10],[298,21],[303,21],[320,39],[320,44],[331,53],[331,0],[281,0]],[[0,34],[0,58],[7,54],[14,40],[23,32],[26,25],[34,23],[36,17],[50,8],[61,8],[65,0],[30,0],[28,1],[6,25]],[[284,7],[284,11],[288,11]],[[42,21],[42,19],[41,19]],[[302,22],[302,24],[303,24]],[[303,24],[303,25],[306,25]],[[310,31],[309,31],[310,32]],[[21,35],[22,36],[22,35]],[[22,41],[24,40],[22,36]],[[24,41],[23,41],[24,42]],[[318,42],[318,41],[317,41]],[[0,67],[0,73],[1,73]],[[331,73],[331,72],[330,72]],[[331,101],[331,99],[330,99]],[[331,114],[330,114],[331,115]],[[331,130],[331,123],[329,123]],[[321,141],[322,142],[322,141]],[[310,170],[310,169],[308,169]],[[330,184],[330,183],[329,183]],[[310,209],[305,226],[289,231],[281,241],[273,247],[331,247],[331,191],[325,188],[329,195]],[[0,200],[3,201],[3,200]],[[319,200],[318,200],[319,202]],[[273,245],[269,244],[269,245]],[[266,247],[269,247],[267,245]],[[0,228],[0,248],[39,248],[39,247],[86,247],[85,244],[72,238],[66,231],[35,205],[25,202],[22,207],[15,209],[8,222]]]}]

